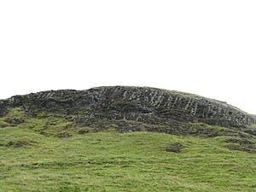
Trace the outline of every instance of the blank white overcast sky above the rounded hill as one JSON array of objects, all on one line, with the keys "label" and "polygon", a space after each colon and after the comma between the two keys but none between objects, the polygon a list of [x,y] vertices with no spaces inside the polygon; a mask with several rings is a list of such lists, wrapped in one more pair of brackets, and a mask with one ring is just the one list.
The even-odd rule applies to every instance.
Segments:
[{"label": "blank white overcast sky above the rounded hill", "polygon": [[255,0],[0,0],[0,98],[139,85],[256,113],[255,65]]}]

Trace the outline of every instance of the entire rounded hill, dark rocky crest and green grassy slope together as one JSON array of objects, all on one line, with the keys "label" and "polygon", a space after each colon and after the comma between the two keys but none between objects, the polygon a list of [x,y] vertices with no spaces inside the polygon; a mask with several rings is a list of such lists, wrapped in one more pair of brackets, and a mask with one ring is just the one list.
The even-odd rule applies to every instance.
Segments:
[{"label": "entire rounded hill, dark rocky crest and green grassy slope together", "polygon": [[0,191],[256,191],[256,118],[148,87],[0,101]]}]

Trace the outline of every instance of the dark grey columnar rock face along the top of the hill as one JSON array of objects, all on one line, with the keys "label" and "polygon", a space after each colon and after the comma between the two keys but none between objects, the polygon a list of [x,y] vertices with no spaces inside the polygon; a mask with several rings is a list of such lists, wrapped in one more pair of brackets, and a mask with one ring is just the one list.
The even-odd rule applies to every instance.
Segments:
[{"label": "dark grey columnar rock face along the top of the hill", "polygon": [[[61,113],[80,125],[111,125],[135,121],[150,125],[206,123],[243,129],[255,116],[226,102],[193,94],[148,87],[109,86],[90,90],[49,90],[0,101],[0,116],[9,108],[26,113]],[[120,123],[120,124],[121,124]]]}]

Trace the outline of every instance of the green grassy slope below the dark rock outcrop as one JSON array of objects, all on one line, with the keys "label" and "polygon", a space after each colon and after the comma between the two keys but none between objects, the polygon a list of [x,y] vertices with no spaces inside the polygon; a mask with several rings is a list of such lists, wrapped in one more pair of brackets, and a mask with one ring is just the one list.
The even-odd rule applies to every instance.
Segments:
[{"label": "green grassy slope below the dark rock outcrop", "polygon": [[[114,125],[97,131],[56,114],[27,118],[20,108],[0,125],[3,192],[256,191],[255,137],[246,133],[184,137]],[[192,127],[199,126],[224,129]]]}]

